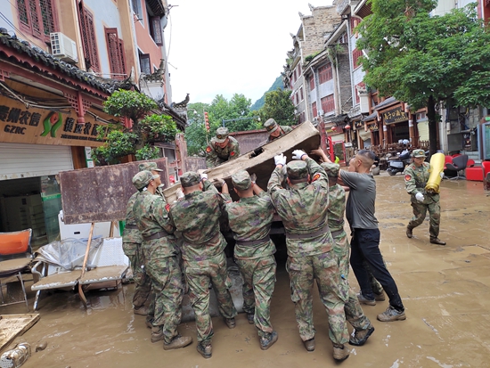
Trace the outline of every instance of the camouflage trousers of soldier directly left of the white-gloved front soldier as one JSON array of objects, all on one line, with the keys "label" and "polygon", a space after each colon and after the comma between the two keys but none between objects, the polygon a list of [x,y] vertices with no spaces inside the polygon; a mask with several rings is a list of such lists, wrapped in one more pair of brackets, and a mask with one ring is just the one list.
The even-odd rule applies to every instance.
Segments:
[{"label": "camouflage trousers of soldier directly left of the white-gloved front soldier", "polygon": [[274,292],[276,263],[274,256],[237,259],[243,278],[243,310],[254,314],[259,337],[272,333],[271,298]]}]

